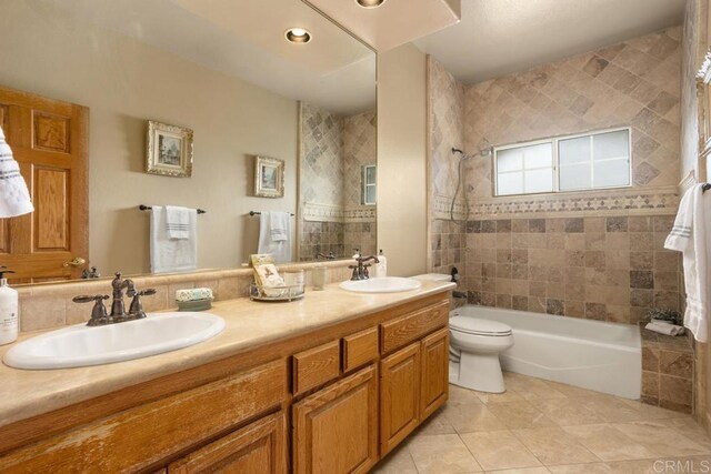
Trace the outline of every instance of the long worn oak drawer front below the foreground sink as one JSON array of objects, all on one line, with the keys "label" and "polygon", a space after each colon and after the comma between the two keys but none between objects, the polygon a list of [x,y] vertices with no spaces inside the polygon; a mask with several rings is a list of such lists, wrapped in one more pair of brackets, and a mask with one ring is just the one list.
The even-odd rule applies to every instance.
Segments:
[{"label": "long worn oak drawer front below the foreground sink", "polygon": [[[274,361],[119,412],[78,430],[11,451],[3,472],[118,473],[144,471],[200,440],[280,405],[286,361]],[[90,461],[90,462],[88,462]]]}]

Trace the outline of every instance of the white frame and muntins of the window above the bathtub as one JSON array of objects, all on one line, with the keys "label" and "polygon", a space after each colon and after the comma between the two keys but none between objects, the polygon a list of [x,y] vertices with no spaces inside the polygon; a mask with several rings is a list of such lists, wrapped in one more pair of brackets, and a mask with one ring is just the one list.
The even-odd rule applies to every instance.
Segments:
[{"label": "white frame and muntins of the window above the bathtub", "polygon": [[[611,185],[611,186],[591,186],[591,188],[579,188],[579,189],[574,189],[574,190],[563,190],[561,191],[560,189],[560,155],[558,152],[559,149],[559,142],[563,141],[563,140],[570,140],[570,139],[578,139],[578,138],[582,138],[582,137],[594,137],[594,135],[600,135],[600,134],[604,134],[604,133],[611,133],[611,132],[620,132],[620,131],[627,131],[628,132],[628,165],[629,165],[629,177],[630,177],[630,182],[629,184],[622,184],[622,185]],[[511,150],[511,149],[515,149],[515,148],[522,148],[522,147],[534,147],[538,144],[543,144],[543,143],[550,143],[551,144],[551,150],[553,152],[553,157],[552,157],[552,169],[551,172],[553,173],[553,189],[551,191],[541,191],[541,192],[523,192],[523,193],[518,193],[518,194],[499,194],[499,159],[498,159],[498,152],[501,150]],[[594,140],[590,140],[590,159],[593,159],[593,147],[594,147]],[[493,148],[493,196],[494,198],[505,198],[505,196],[515,196],[515,195],[535,195],[535,194],[551,194],[551,193],[569,193],[569,192],[585,192],[585,191],[597,191],[597,190],[605,190],[605,189],[628,189],[628,188],[632,188],[633,186],[633,177],[632,177],[632,128],[631,127],[617,127],[617,128],[612,128],[612,129],[603,129],[603,130],[594,130],[594,131],[589,131],[589,132],[583,132],[583,133],[575,133],[575,134],[570,134],[570,135],[558,135],[558,137],[551,137],[548,139],[541,139],[541,140],[532,140],[532,141],[527,141],[527,142],[519,142],[519,143],[511,143],[511,144],[507,144],[507,145],[501,145],[501,147],[494,147]],[[604,159],[602,161],[614,161],[614,160],[619,160],[619,158],[617,159]],[[587,162],[583,162],[587,163]],[[543,170],[545,168],[535,168],[535,169],[531,169],[531,170],[525,170],[522,169],[523,171],[523,189],[525,189],[525,171],[533,171],[533,170]],[[511,171],[513,172],[513,171]],[[503,171],[502,173],[509,173],[508,171]],[[590,167],[590,182],[593,183],[594,182],[594,167]]]}]

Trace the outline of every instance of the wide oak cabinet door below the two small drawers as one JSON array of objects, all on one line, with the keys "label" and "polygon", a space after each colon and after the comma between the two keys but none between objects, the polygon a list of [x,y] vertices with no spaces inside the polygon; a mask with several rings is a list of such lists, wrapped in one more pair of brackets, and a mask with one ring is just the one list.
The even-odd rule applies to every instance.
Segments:
[{"label": "wide oak cabinet door below the two small drawers", "polygon": [[378,461],[375,366],[293,405],[292,443],[294,473],[367,473]]}]

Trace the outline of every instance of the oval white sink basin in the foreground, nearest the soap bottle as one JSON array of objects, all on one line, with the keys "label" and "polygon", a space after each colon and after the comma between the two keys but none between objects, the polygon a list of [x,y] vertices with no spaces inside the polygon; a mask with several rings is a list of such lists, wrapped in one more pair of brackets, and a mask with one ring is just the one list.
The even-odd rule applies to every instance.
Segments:
[{"label": "oval white sink basin in the foreground, nearest the soap bottle", "polygon": [[224,329],[210,313],[154,313],[106,326],[78,324],[28,339],[2,357],[16,369],[68,369],[148,357],[206,341]]}]

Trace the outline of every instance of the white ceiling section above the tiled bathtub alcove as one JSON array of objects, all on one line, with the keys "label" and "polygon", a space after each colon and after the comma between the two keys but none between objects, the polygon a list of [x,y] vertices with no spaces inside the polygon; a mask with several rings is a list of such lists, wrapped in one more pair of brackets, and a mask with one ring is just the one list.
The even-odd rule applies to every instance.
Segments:
[{"label": "white ceiling section above the tiled bathtub alcove", "polygon": [[414,41],[470,84],[650,33],[685,0],[462,0],[461,22]]}]

